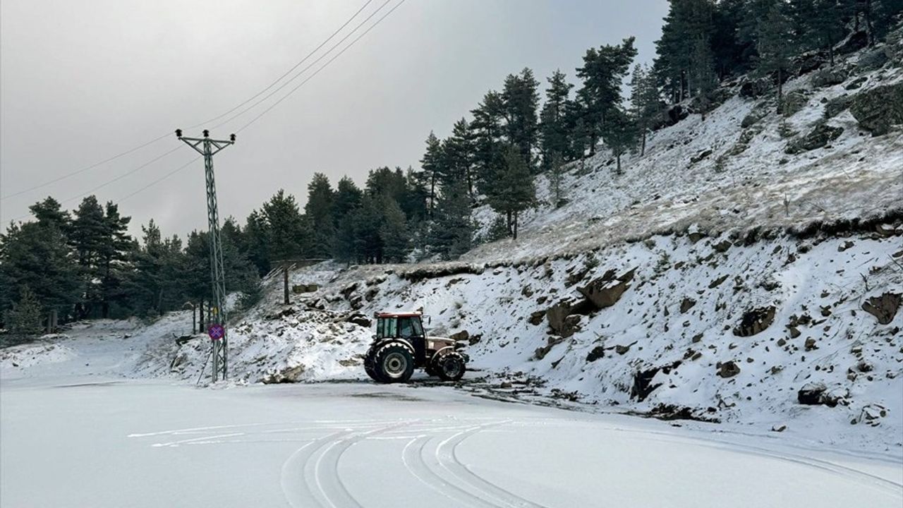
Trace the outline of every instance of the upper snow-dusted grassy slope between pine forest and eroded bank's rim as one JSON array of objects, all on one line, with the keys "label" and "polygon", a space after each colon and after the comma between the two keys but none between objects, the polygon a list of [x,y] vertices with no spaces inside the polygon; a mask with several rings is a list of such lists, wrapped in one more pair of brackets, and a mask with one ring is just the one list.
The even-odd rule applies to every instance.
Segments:
[{"label": "upper snow-dusted grassy slope between pine forest and eroded bank's rim", "polygon": [[[850,106],[856,98],[879,101],[882,94],[875,90],[890,89],[898,104],[881,108],[899,115],[894,111],[903,108],[903,63],[868,70],[868,54],[789,80],[785,101],[796,109],[792,115],[776,113],[773,91],[740,97],[740,80],[727,87],[731,98],[705,120],[690,115],[649,136],[645,155],[622,157],[623,174],[615,173],[606,151],[569,165],[562,183],[568,202],[561,208],[551,206],[548,179],[541,176],[541,204],[522,218],[520,238],[473,249],[465,259],[582,252],[688,228],[805,230],[814,223],[900,212],[903,132],[872,136]],[[824,146],[787,154],[823,125],[842,130],[829,131],[837,137]],[[494,217],[489,206],[475,212],[484,232]]]}]

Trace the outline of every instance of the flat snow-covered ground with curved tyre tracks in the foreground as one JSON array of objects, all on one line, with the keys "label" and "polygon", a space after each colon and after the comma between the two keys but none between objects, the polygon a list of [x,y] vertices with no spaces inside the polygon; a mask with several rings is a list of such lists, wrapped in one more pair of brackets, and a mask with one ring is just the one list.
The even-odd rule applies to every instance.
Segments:
[{"label": "flat snow-covered ground with curved tyre tracks in the foreground", "polygon": [[903,503],[888,458],[369,383],[5,380],[0,505]]}]

